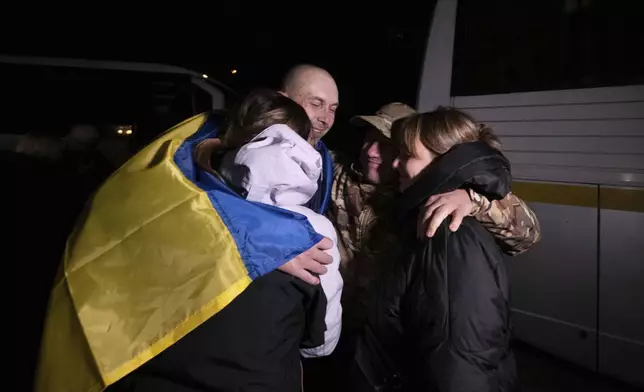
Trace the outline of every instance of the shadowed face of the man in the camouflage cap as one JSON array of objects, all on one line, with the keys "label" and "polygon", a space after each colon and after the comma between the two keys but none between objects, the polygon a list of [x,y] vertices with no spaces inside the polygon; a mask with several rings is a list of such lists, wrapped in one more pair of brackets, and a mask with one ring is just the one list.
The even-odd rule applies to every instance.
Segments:
[{"label": "shadowed face of the man in the camouflage cap", "polygon": [[394,147],[378,129],[370,126],[360,150],[362,174],[371,184],[380,184],[394,178]]}]

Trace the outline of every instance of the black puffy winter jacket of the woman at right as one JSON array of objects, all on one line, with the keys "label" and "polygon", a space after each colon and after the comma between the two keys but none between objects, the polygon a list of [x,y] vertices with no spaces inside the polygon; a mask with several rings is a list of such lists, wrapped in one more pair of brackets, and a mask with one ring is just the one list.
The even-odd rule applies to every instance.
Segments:
[{"label": "black puffy winter jacket of the woman at right", "polygon": [[509,284],[501,251],[475,219],[444,223],[419,240],[419,207],[431,195],[510,190],[506,158],[482,142],[454,147],[400,195],[400,248],[374,294],[353,364],[353,390],[487,392],[515,389]]}]

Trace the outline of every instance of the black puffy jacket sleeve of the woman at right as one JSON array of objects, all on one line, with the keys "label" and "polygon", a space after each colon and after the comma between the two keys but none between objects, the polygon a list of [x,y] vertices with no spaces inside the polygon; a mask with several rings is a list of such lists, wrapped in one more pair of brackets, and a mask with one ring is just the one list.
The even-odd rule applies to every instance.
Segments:
[{"label": "black puffy jacket sleeve of the woman at right", "polygon": [[506,390],[514,377],[507,277],[491,235],[472,220],[455,233],[443,225],[423,253],[402,310],[415,390]]}]

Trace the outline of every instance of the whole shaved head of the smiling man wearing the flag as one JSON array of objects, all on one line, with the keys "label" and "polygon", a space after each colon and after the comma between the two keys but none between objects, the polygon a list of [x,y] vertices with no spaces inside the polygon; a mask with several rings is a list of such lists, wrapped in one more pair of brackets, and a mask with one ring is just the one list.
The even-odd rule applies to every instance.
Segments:
[{"label": "whole shaved head of the smiling man wearing the flag", "polygon": [[282,81],[282,93],[299,103],[311,119],[309,141],[316,144],[333,126],[338,108],[338,87],[325,69],[310,64],[291,68]]}]

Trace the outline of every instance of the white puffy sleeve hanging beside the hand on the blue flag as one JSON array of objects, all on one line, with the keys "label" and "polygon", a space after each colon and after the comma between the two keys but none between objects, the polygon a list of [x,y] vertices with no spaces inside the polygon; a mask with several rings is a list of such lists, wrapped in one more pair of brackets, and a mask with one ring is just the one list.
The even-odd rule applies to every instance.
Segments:
[{"label": "white puffy sleeve hanging beside the hand on the blue flag", "polygon": [[308,216],[309,222],[318,233],[329,237],[333,247],[327,252],[333,257],[333,262],[327,265],[327,273],[320,275],[320,284],[326,295],[326,331],[324,344],[313,348],[300,349],[300,354],[305,358],[324,357],[330,355],[340,340],[342,330],[342,276],[340,275],[340,251],[338,250],[338,236],[331,222],[322,215]]}]

